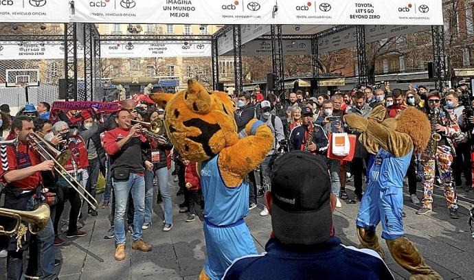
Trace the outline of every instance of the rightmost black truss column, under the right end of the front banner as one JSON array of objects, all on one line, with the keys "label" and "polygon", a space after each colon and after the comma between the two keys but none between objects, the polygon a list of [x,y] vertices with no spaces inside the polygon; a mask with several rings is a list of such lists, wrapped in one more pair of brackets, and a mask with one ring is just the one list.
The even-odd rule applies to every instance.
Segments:
[{"label": "rightmost black truss column, under the right end of the front banner", "polygon": [[445,86],[447,76],[446,55],[444,54],[444,27],[443,25],[431,26],[431,39],[433,43],[433,79],[438,91]]}]

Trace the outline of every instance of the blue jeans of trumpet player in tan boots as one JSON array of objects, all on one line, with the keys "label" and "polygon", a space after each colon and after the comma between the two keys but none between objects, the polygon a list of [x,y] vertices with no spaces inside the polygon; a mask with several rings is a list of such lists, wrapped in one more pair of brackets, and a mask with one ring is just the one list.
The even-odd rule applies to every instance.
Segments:
[{"label": "blue jeans of trumpet player in tan boots", "polygon": [[125,243],[125,210],[128,194],[131,192],[135,213],[133,215],[133,241],[142,238],[142,225],[145,213],[145,178],[130,173],[128,180],[113,179],[113,193],[115,196],[115,243]]}]

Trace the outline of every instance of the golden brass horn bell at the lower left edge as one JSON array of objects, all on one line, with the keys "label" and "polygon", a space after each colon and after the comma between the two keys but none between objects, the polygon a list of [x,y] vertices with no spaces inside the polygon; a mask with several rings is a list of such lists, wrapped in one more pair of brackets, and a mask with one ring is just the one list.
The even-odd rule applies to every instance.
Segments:
[{"label": "golden brass horn bell at the lower left edge", "polygon": [[7,231],[0,226],[0,235],[12,236],[20,229],[21,222],[28,222],[28,228],[33,234],[41,231],[49,220],[49,206],[45,203],[39,205],[34,211],[20,211],[7,208],[0,208],[0,216],[10,217],[16,219],[16,224],[13,229]]}]

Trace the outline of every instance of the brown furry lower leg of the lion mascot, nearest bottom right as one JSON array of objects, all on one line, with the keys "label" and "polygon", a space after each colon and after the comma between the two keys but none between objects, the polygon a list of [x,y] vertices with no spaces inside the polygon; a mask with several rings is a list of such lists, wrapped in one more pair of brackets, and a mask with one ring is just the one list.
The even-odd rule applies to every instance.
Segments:
[{"label": "brown furry lower leg of the lion mascot, nearest bottom right", "polygon": [[411,273],[410,280],[414,279],[442,279],[442,277],[425,263],[420,252],[407,237],[398,237],[394,240],[385,240],[395,261]]}]

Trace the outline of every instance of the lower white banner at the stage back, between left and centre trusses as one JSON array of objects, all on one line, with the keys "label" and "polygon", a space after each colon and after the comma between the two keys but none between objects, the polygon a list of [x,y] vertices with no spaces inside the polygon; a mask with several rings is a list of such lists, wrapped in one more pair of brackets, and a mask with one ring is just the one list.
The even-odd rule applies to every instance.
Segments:
[{"label": "lower white banner at the stage back, between left and centre trusses", "polygon": [[128,42],[100,44],[101,58],[173,58],[211,56],[210,43],[152,43]]}]

